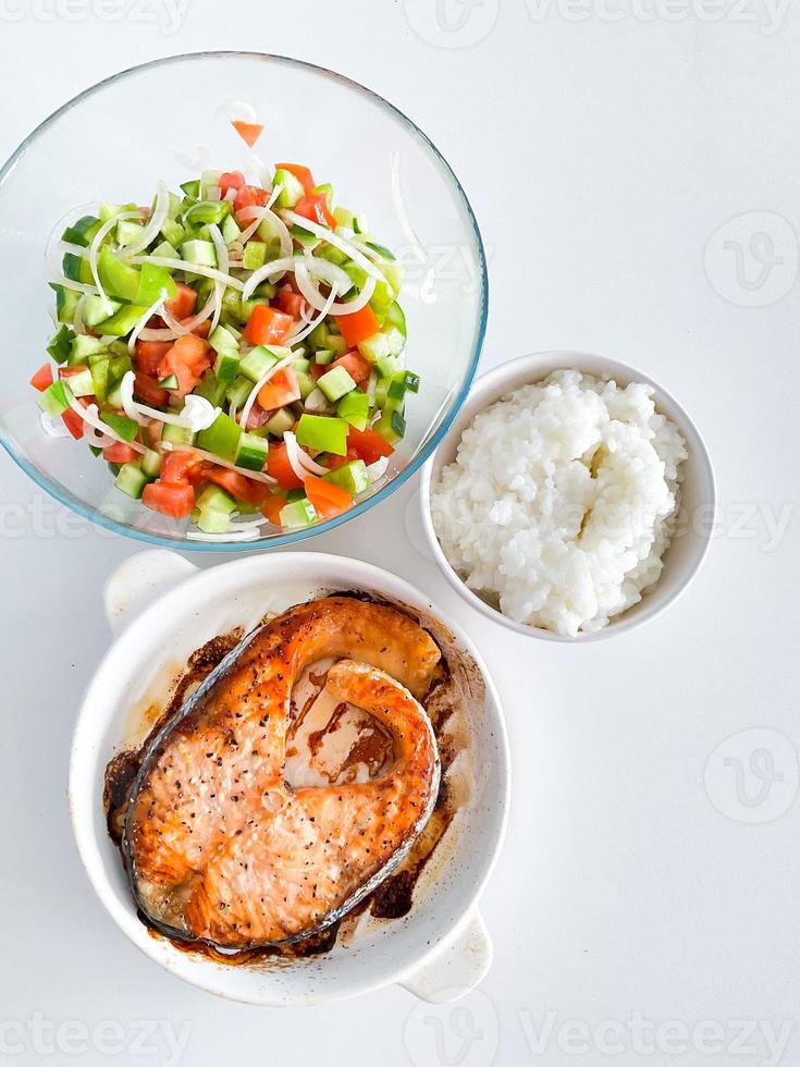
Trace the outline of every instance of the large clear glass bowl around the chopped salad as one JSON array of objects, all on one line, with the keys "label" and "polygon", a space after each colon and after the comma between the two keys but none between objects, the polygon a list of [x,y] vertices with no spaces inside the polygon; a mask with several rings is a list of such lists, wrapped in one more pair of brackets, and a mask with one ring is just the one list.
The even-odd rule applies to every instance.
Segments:
[{"label": "large clear glass bowl around the chopped salad", "polygon": [[[420,376],[407,430],[383,485],[344,514],[250,540],[187,537],[113,485],[83,441],[48,436],[30,376],[53,333],[47,249],[100,201],[149,204],[157,183],[176,188],[207,169],[253,173],[258,160],[233,118],[255,112],[255,146],[270,170],[296,160],[330,181],[339,203],[362,211],[405,267],[406,365]],[[487,320],[487,272],[475,216],[453,171],[401,111],[330,71],[276,56],[206,52],[124,71],[70,100],[38,126],[0,171],[5,343],[0,440],[61,503],[151,543],[212,551],[287,544],[347,522],[405,481],[442,439],[469,390]],[[50,255],[59,268],[61,256]],[[358,498],[357,498],[358,501]]]}]

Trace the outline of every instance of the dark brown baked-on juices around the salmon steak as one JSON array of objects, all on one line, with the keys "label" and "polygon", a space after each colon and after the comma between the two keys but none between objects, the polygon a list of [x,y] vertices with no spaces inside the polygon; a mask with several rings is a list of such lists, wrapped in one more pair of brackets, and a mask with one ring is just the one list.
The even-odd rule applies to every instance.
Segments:
[{"label": "dark brown baked-on juices around the salmon steak", "polygon": [[[396,604],[378,600],[362,592],[337,592],[336,596],[349,596],[358,600],[383,603],[394,611],[401,611]],[[413,618],[415,617],[410,612],[405,614],[408,614]],[[415,618],[415,622],[417,621]],[[242,637],[243,631],[236,629],[230,634],[216,637],[197,649],[189,657],[185,670],[174,683],[171,696],[163,708],[160,709],[158,704],[149,704],[144,711],[141,726],[149,726],[150,728],[147,731],[147,735],[140,745],[135,749],[125,749],[118,752],[108,763],[103,788],[103,809],[106,811],[109,835],[118,846],[120,846],[122,841],[128,795],[151,739],[180,712],[187,697],[241,641]],[[433,856],[436,846],[444,837],[457,810],[457,805],[450,797],[450,790],[445,780],[447,768],[456,755],[452,750],[453,746],[446,735],[445,725],[455,709],[452,694],[448,694],[447,683],[450,679],[450,670],[445,652],[441,648],[441,643],[436,643],[442,652],[442,660],[428,694],[420,702],[429,714],[436,737],[442,765],[442,780],[434,810],[408,856],[399,867],[343,919],[305,941],[281,946],[224,952],[205,943],[169,939],[176,948],[182,952],[206,956],[216,962],[227,966],[243,966],[266,958],[275,962],[280,962],[281,960],[291,961],[298,957],[325,954],[334,947],[339,940],[346,943],[355,931],[358,917],[366,911],[369,911],[374,919],[385,920],[402,918],[410,911],[417,882],[427,862]],[[292,702],[291,718],[293,722],[286,738],[287,757],[293,755],[293,738],[300,727],[304,718],[313,704],[318,692],[324,687],[325,674],[310,674],[310,682],[316,691],[304,702],[304,707],[297,709],[294,707],[294,700]],[[328,725],[309,735],[308,748],[311,759],[319,751],[324,739],[339,729],[346,711],[346,704],[337,706]],[[347,781],[348,776],[352,780],[353,774],[355,774],[359,765],[368,766],[370,777],[373,777],[385,766],[390,765],[393,759],[391,735],[368,712],[361,712],[361,714],[370,721],[370,725],[366,727],[365,724],[366,728],[362,727],[359,731],[355,745],[350,748],[342,764],[340,769],[342,781]],[[138,916],[141,922],[149,928],[151,936],[164,937],[162,933],[151,925],[144,912],[139,910]]]}]

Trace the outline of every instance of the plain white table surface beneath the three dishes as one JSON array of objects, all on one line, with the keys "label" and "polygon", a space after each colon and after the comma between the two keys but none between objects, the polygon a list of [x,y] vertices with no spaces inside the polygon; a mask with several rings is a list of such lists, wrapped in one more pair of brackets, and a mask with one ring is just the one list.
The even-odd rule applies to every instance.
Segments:
[{"label": "plain white table surface beneath the three dishes", "polygon": [[307,542],[395,571],[471,634],[516,777],[479,992],[456,1010],[398,988],[270,1010],[162,972],[88,885],[65,804],[70,737],[109,643],[103,579],[139,547],[42,499],[2,457],[0,1057],[800,1062],[798,14],[781,21],[765,0],[545,9],[446,0],[438,22],[432,0],[180,0],[169,33],[165,0],[0,0],[2,157],[86,86],[180,51],[294,54],[387,97],[442,149],[481,224],[482,366],[571,347],[641,367],[696,418],[721,498],[686,596],[580,649],[517,637],[460,601],[421,549],[416,479]]}]

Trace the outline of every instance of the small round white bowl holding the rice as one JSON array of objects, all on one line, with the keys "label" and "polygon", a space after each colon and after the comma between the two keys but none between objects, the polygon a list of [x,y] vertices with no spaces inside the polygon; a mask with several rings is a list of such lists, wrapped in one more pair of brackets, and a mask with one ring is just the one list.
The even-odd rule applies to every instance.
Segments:
[{"label": "small round white bowl holding the rice", "polygon": [[[684,481],[681,483],[680,519],[678,530],[664,556],[664,569],[656,585],[642,596],[638,604],[618,615],[601,630],[591,634],[580,634],[578,637],[566,637],[552,630],[516,623],[501,614],[488,604],[477,593],[468,589],[466,584],[450,565],[447,557],[439,543],[431,518],[431,483],[443,466],[453,463],[461,434],[475,416],[494,401],[521,385],[531,384],[546,378],[554,370],[575,367],[598,378],[613,378],[619,385],[631,381],[644,382],[655,391],[656,408],[667,415],[680,428],[686,440],[688,458],[684,463]],[[623,634],[654,618],[686,589],[698,573],[700,564],[705,559],[711,541],[711,528],[716,504],[714,473],[703,439],[686,414],[684,408],[657,382],[640,370],[635,370],[625,364],[605,356],[590,355],[584,352],[538,352],[529,356],[520,356],[509,363],[495,367],[481,375],[475,382],[472,391],[464,407],[458,413],[453,426],[444,437],[434,454],[422,468],[420,482],[420,503],[422,508],[422,526],[431,547],[431,551],[453,588],[473,608],[484,615],[502,623],[517,634],[534,637],[545,641],[565,641],[573,645],[583,645],[599,641],[606,637]]]}]

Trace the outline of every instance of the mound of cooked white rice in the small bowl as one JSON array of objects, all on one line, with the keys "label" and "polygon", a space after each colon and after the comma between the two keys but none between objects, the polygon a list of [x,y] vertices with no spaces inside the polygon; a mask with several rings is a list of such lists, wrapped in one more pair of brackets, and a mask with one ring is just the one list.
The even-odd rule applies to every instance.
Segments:
[{"label": "mound of cooked white rice in the small bowl", "polygon": [[598,630],[657,581],[686,456],[650,385],[558,370],[475,417],[433,486],[433,525],[504,615]]}]

